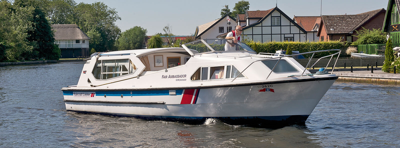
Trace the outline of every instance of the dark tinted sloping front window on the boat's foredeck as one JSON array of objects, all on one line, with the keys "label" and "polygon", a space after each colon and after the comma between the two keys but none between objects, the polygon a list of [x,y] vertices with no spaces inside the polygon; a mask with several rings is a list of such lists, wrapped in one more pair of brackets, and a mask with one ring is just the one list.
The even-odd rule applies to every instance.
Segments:
[{"label": "dark tinted sloping front window on the boat's foredeck", "polygon": [[[274,68],[276,62],[278,62],[278,60],[262,61],[262,63],[264,63],[271,70],[272,68]],[[275,73],[298,72],[298,70],[294,68],[292,65],[290,65],[289,62],[287,62],[286,60],[279,60],[279,63],[276,65],[273,72]]]}]

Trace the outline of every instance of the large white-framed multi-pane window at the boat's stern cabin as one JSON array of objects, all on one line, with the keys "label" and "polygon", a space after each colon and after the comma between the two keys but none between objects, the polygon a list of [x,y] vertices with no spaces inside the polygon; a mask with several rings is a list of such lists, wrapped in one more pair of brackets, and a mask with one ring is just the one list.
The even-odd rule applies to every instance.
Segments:
[{"label": "large white-framed multi-pane window at the boat's stern cabin", "polygon": [[98,60],[92,74],[98,80],[105,80],[134,73],[136,69],[135,64],[129,59]]}]

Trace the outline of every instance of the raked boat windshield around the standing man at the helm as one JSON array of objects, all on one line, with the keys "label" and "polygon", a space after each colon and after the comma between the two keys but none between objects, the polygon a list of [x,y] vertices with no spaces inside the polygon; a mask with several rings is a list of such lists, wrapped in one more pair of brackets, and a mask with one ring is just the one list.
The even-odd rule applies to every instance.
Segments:
[{"label": "raked boat windshield around the standing man at the helm", "polygon": [[[228,43],[227,43],[228,42]],[[227,45],[225,45],[227,44]],[[254,52],[247,44],[243,42],[234,43],[232,40],[228,39],[201,39],[193,42],[183,44],[183,47],[188,49],[196,50],[202,54],[206,52]]]}]

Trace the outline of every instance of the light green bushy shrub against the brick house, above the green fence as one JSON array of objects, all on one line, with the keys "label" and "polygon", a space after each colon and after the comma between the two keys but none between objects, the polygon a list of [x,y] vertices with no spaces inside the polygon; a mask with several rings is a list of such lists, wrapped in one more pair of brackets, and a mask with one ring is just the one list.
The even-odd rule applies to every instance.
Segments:
[{"label": "light green bushy shrub against the brick house, above the green fence", "polygon": [[355,35],[358,39],[352,43],[352,45],[363,45],[363,44],[383,44],[386,42],[386,36],[380,29],[368,30],[362,27],[362,30],[356,30],[358,35]]}]

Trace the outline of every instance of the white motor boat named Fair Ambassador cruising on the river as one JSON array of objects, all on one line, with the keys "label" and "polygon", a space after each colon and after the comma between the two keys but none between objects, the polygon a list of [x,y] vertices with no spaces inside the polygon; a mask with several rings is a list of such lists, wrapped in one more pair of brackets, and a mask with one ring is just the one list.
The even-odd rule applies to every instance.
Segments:
[{"label": "white motor boat named Fair Ambassador cruising on the river", "polygon": [[[304,124],[338,78],[310,74],[306,68],[312,66],[291,58],[301,54],[257,54],[242,42],[236,51],[224,51],[225,42],[197,40],[183,48],[93,56],[78,85],[61,89],[66,109],[194,124],[216,118],[232,125],[287,126]],[[302,54],[332,51],[322,58],[340,54]]]}]

